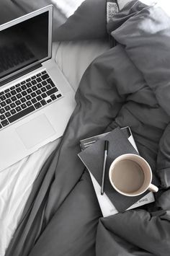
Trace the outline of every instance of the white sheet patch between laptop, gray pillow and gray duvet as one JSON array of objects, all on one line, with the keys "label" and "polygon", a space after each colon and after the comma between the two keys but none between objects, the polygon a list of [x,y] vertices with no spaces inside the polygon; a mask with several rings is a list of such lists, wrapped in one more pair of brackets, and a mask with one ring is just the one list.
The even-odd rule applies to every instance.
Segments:
[{"label": "white sheet patch between laptop, gray pillow and gray duvet", "polygon": [[53,46],[55,61],[75,91],[89,64],[109,49],[109,43],[103,40],[68,41]]}]

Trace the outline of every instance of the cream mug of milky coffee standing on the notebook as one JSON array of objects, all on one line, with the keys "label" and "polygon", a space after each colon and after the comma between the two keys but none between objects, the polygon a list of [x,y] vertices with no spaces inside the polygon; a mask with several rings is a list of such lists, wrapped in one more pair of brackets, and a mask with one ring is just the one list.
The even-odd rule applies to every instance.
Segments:
[{"label": "cream mug of milky coffee standing on the notebook", "polygon": [[109,167],[109,181],[118,193],[137,196],[146,190],[158,192],[151,184],[152,171],[146,160],[136,154],[122,154]]}]

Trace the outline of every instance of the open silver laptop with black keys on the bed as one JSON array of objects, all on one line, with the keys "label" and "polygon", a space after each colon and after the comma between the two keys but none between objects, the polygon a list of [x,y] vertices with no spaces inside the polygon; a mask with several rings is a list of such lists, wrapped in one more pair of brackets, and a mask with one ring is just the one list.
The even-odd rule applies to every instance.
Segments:
[{"label": "open silver laptop with black keys on the bed", "polygon": [[50,5],[0,26],[0,171],[61,137],[76,105],[52,24]]}]

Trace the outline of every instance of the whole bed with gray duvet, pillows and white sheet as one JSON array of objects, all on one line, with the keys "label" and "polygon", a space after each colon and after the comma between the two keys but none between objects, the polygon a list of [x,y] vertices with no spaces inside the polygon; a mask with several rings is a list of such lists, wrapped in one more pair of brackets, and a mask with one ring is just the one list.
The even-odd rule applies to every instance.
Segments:
[{"label": "whole bed with gray duvet, pillows and white sheet", "polygon": [[[169,255],[169,14],[149,4],[87,0],[59,28],[53,58],[77,106],[63,138],[0,173],[0,255]],[[79,140],[125,125],[160,192],[102,218]]]}]

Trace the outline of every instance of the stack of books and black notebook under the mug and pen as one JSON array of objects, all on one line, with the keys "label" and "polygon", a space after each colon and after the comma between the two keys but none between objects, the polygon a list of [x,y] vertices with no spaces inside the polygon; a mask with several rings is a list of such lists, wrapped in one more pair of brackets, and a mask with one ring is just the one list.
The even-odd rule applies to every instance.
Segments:
[{"label": "stack of books and black notebook under the mug and pen", "polygon": [[[109,151],[104,179],[104,195],[101,195],[105,140],[109,141]],[[122,154],[138,154],[138,149],[129,127],[115,128],[115,130],[109,133],[86,138],[80,141],[80,145],[81,152],[78,155],[89,170],[91,181],[93,182],[99,206],[104,217],[137,208],[147,203],[152,203],[155,200],[153,193],[148,190],[146,193],[134,197],[121,195],[117,193],[109,182],[109,166],[117,156]]]}]

